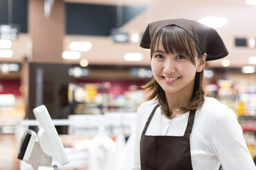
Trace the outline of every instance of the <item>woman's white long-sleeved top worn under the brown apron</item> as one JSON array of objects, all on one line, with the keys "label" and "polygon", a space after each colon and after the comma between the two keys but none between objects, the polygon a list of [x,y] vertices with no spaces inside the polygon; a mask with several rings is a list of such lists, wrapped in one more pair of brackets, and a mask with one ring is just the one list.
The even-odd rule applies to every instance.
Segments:
[{"label": "woman's white long-sleeved top worn under the brown apron", "polygon": [[[140,169],[140,136],[147,118],[156,106],[149,100],[138,108],[133,169]],[[149,123],[146,135],[183,136],[188,124],[189,111],[167,119],[158,107]],[[255,170],[255,164],[246,146],[237,116],[218,100],[205,97],[202,107],[196,110],[190,136],[190,153],[193,170]]]}]

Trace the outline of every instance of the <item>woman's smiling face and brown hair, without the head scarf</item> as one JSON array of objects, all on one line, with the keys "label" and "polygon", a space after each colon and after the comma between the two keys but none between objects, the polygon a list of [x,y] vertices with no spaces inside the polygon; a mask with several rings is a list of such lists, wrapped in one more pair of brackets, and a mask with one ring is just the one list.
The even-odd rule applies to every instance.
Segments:
[{"label": "woman's smiling face and brown hair, without the head scarf", "polygon": [[[183,111],[199,108],[204,101],[202,70],[206,54],[202,54],[192,36],[182,28],[169,25],[156,33],[151,49],[154,78],[145,85],[145,89],[154,92],[152,89],[161,86],[157,87],[157,95],[163,114],[169,117],[177,109],[173,108],[172,103],[166,103],[169,96],[165,93],[172,94],[173,97],[184,94],[182,96],[186,97],[179,106]],[[192,94],[193,88],[197,95]],[[152,94],[148,99],[152,100],[155,97],[156,94]],[[188,100],[190,98],[191,100]]]}]

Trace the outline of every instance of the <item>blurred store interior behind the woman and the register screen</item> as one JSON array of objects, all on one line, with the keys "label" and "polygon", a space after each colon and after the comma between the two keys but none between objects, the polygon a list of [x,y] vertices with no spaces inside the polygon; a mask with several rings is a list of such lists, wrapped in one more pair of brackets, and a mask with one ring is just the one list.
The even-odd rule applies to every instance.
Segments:
[{"label": "blurred store interior behind the woman and the register screen", "polygon": [[32,110],[42,104],[69,169],[89,169],[101,126],[124,149],[119,134],[131,135],[141,85],[152,78],[143,31],[175,18],[209,25],[226,43],[228,57],[205,68],[205,89],[235,111],[255,158],[255,16],[255,0],[0,0],[0,169],[27,169],[19,142],[22,129],[37,129]]}]

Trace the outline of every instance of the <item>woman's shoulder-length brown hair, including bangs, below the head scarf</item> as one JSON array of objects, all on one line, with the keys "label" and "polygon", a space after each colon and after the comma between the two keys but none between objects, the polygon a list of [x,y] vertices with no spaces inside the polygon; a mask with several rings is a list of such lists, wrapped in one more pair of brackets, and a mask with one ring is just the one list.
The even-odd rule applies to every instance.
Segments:
[{"label": "woman's shoulder-length brown hair, including bangs, below the head scarf", "polygon": [[[199,45],[194,41],[192,36],[188,34],[182,28],[177,27],[176,25],[168,25],[162,28],[159,32],[154,36],[150,49],[151,59],[154,54],[154,49],[158,47],[158,45],[163,45],[163,49],[166,53],[180,53],[188,56],[189,60],[195,65],[195,57],[197,56],[199,59],[203,56]],[[149,81],[146,85],[143,85],[143,88],[146,92],[149,93],[147,96],[147,100],[157,99],[158,105],[161,106],[161,111],[167,117],[172,116],[170,109],[167,104],[165,91],[162,89],[160,85],[156,82],[154,78]],[[192,98],[190,100],[190,104],[185,107],[181,107],[182,111],[194,110],[204,102],[205,92],[203,89],[203,71],[196,72],[195,80],[194,80],[194,90],[192,93]]]}]

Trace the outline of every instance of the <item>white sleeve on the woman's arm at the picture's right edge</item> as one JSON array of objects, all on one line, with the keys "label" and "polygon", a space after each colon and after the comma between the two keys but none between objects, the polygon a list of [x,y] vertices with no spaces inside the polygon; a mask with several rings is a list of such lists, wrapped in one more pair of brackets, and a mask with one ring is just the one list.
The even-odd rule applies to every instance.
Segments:
[{"label": "white sleeve on the woman's arm at the picture's right edge", "polygon": [[214,116],[212,148],[224,170],[256,170],[237,116],[228,107]]}]

